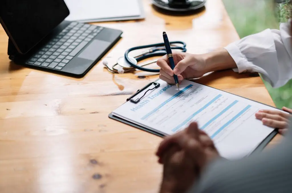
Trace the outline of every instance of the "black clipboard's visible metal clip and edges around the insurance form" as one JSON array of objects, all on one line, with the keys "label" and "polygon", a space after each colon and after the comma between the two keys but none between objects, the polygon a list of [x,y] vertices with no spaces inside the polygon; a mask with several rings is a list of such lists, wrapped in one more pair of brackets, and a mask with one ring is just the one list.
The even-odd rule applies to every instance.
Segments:
[{"label": "black clipboard's visible metal clip and edges around the insurance form", "polygon": [[[159,79],[157,79],[157,80],[159,80]],[[147,85],[146,85],[145,87],[143,87],[142,89],[139,89],[137,92],[135,92],[133,95],[131,95],[131,97],[129,97],[129,98],[126,100],[126,102],[127,102],[127,101],[131,101],[131,102],[133,102],[133,103],[138,103],[138,102],[140,101],[140,99],[142,99],[143,96],[144,96],[148,91],[153,90],[153,89],[156,89],[156,88],[159,87],[159,83],[156,82],[157,80],[155,80],[154,82],[150,82],[149,84],[147,84]],[[194,81],[193,81],[193,82],[194,82]],[[158,84],[158,85],[157,85],[157,84]],[[153,88],[153,89],[148,89],[151,85],[154,85],[154,88]],[[201,85],[203,85],[203,84],[201,84]],[[207,85],[205,85],[205,86],[207,86]],[[210,86],[208,86],[208,87],[210,87]],[[211,88],[213,88],[213,87],[211,87]],[[216,88],[213,88],[213,89],[216,89]],[[216,90],[220,90],[220,89],[216,89]],[[144,95],[142,95],[142,97],[140,97],[140,98],[138,98],[138,99],[133,99],[135,96],[137,96],[138,94],[142,93],[143,91],[145,91],[145,93],[144,93]],[[220,91],[223,91],[223,90],[220,90]],[[223,91],[223,92],[226,92],[226,91]],[[226,92],[226,93],[232,94],[232,93],[230,93],[230,92]],[[241,97],[241,96],[236,95],[236,94],[232,94],[232,95],[235,95],[235,96]],[[241,98],[248,99],[248,98],[245,98],[245,97],[241,97]],[[248,100],[250,100],[250,101],[254,101],[254,100],[251,100],[251,99],[248,99]],[[256,103],[260,103],[260,104],[263,104],[263,103],[258,102],[258,101],[254,101],[254,102],[256,102]],[[266,105],[266,104],[263,104],[263,105]],[[266,106],[270,106],[270,105],[266,105]],[[270,107],[275,108],[275,107],[273,107],[273,106],[270,106]],[[280,110],[280,109],[278,109],[278,108],[275,108],[275,109]],[[140,130],[143,130],[143,131],[145,131],[145,132],[151,133],[151,134],[153,134],[153,135],[157,135],[157,136],[159,136],[159,137],[165,137],[165,135],[162,135],[162,134],[159,133],[159,132],[156,132],[156,131],[154,131],[154,130],[151,130],[150,128],[143,127],[143,126],[138,125],[138,124],[136,124],[136,123],[132,123],[131,121],[128,121],[128,120],[125,120],[125,119],[123,119],[123,118],[120,118],[120,117],[114,116],[113,113],[110,113],[110,114],[108,115],[108,117],[111,118],[111,119],[117,120],[117,121],[119,121],[119,122],[121,122],[121,123],[125,123],[125,124],[127,124],[127,125],[132,126],[132,127],[135,127],[135,128],[140,129]],[[256,149],[253,150],[253,151],[251,152],[251,154],[258,153],[258,152],[262,151],[262,150],[267,146],[267,144],[269,144],[269,142],[270,142],[270,141],[271,141],[271,140],[272,140],[277,134],[278,134],[278,130],[277,130],[277,128],[275,128],[275,129],[270,133],[270,135],[268,135],[268,136],[267,136],[267,137],[266,137],[266,138],[265,138],[265,139],[264,139],[264,140],[258,145],[258,147],[256,147]],[[250,155],[250,154],[249,154],[249,155]]]}]

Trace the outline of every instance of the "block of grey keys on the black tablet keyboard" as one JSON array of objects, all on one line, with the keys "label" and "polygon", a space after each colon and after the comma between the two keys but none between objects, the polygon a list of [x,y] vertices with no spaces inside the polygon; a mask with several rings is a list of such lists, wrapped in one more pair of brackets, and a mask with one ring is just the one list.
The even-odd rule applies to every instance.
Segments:
[{"label": "block of grey keys on the black tablet keyboard", "polygon": [[26,64],[62,70],[102,29],[95,25],[72,22]]}]

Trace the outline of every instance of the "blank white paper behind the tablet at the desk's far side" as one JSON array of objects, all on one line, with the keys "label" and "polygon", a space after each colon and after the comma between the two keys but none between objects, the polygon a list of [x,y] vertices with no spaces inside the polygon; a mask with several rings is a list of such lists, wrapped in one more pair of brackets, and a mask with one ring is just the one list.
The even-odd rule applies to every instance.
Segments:
[{"label": "blank white paper behind the tablet at the desk's far side", "polygon": [[68,21],[139,16],[139,0],[65,0]]}]

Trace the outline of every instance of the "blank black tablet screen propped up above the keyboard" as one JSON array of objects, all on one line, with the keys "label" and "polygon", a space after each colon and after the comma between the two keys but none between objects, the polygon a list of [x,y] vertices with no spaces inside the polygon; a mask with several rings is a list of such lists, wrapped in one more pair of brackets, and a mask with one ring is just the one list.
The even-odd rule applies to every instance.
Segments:
[{"label": "blank black tablet screen propped up above the keyboard", "polygon": [[46,37],[68,15],[69,10],[63,0],[0,1],[0,22],[22,54]]}]

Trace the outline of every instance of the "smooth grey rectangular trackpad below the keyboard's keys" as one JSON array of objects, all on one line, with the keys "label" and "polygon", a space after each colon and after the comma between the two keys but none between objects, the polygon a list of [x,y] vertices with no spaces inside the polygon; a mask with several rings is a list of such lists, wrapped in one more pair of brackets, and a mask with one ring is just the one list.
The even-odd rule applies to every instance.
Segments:
[{"label": "smooth grey rectangular trackpad below the keyboard's keys", "polygon": [[94,61],[109,45],[110,42],[94,39],[77,57]]}]

